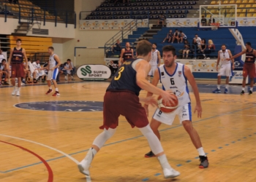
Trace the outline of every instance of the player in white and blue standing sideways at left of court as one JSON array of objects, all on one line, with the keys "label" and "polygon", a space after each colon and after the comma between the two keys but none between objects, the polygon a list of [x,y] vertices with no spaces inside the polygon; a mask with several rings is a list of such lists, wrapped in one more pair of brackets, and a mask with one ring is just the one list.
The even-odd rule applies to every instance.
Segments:
[{"label": "player in white and blue standing sideways at left of court", "polygon": [[53,80],[53,84],[55,87],[55,93],[53,94],[53,96],[59,96],[59,89],[57,87],[57,82],[56,82],[56,78],[58,76],[59,73],[59,66],[61,65],[61,60],[59,60],[59,56],[54,54],[54,48],[53,47],[48,47],[48,53],[50,54],[50,58],[48,61],[48,77],[47,77],[47,83],[48,83],[48,87],[49,90],[45,93],[46,95],[48,95],[50,92],[53,92],[53,89],[50,85],[50,80]]}]

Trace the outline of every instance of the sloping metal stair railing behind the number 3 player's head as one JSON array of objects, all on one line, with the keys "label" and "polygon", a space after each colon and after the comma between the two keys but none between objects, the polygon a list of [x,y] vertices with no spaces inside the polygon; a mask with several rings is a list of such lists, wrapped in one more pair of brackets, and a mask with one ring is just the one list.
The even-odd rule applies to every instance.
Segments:
[{"label": "sloping metal stair railing behind the number 3 player's head", "polygon": [[[104,47],[105,53],[108,52],[109,50],[112,50],[112,47],[117,40],[123,41],[125,37],[130,35],[132,31],[137,30],[137,28],[138,28],[138,20],[132,20],[129,24],[125,25],[121,31],[116,33],[116,35],[114,35],[111,39],[109,39],[105,43],[105,47]],[[132,44],[132,48],[134,48],[133,44]]]}]

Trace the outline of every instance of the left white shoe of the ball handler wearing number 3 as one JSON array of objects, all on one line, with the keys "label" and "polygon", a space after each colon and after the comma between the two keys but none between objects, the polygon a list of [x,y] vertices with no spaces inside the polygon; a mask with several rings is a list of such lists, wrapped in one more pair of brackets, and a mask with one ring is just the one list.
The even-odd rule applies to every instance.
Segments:
[{"label": "left white shoe of the ball handler wearing number 3", "polygon": [[86,157],[78,164],[80,173],[83,173],[84,175],[90,175],[89,167],[91,165],[92,159],[94,159],[94,153],[92,152],[92,149],[89,149]]}]

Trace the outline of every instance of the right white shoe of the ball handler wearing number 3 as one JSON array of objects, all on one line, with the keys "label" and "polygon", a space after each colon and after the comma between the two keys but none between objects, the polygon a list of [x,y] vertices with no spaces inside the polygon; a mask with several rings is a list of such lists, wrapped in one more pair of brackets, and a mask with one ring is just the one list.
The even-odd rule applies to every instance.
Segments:
[{"label": "right white shoe of the ball handler wearing number 3", "polygon": [[162,171],[163,171],[166,179],[167,178],[175,178],[181,174],[178,171],[174,170],[172,167],[170,167],[169,163],[167,162],[167,158],[166,158],[165,154],[157,157],[157,159],[159,160],[159,163],[162,167]]}]

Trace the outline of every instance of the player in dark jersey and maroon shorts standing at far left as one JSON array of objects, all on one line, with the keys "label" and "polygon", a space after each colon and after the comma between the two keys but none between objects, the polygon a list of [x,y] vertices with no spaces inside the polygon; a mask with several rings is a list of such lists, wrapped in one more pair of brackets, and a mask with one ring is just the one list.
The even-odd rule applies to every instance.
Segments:
[{"label": "player in dark jersey and maroon shorts standing at far left", "polygon": [[[21,39],[17,39],[16,47],[11,49],[10,58],[8,60],[9,65],[12,65],[12,95],[20,96],[21,78],[24,77],[23,57],[26,62],[26,71],[28,68],[28,58],[26,58],[26,50],[21,47]],[[15,78],[18,78],[18,87],[15,86]]]}]

